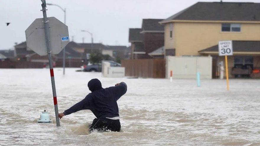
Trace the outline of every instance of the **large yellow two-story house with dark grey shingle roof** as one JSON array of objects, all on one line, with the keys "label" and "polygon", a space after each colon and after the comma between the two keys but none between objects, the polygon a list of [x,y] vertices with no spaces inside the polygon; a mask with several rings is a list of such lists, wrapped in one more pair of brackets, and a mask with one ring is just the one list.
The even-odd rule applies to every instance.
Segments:
[{"label": "large yellow two-story house with dark grey shingle roof", "polygon": [[[234,67],[260,67],[260,3],[198,2],[163,20],[165,55],[211,55],[217,64],[218,41],[233,41],[228,56],[229,75]],[[225,66],[225,62],[224,62]]]}]

